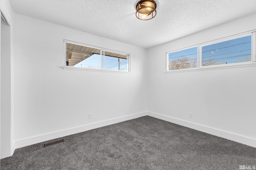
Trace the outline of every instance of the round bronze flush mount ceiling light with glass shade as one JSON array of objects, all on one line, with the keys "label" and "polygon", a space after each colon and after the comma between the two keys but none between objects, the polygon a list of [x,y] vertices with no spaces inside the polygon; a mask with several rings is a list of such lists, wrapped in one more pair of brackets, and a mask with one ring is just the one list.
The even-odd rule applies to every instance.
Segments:
[{"label": "round bronze flush mount ceiling light with glass shade", "polygon": [[140,20],[150,20],[156,16],[156,2],[140,0],[136,4],[136,17]]}]

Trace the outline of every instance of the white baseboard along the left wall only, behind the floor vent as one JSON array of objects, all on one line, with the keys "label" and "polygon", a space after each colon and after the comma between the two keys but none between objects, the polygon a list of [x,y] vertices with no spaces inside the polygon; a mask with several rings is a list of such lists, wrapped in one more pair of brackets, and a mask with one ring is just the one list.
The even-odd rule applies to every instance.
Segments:
[{"label": "white baseboard along the left wall only, behind the floor vent", "polygon": [[15,141],[15,149],[18,149],[18,148],[21,148],[21,147],[26,147],[26,146],[33,145],[33,144],[40,143],[40,142],[44,142],[44,141],[49,141],[49,140],[64,137],[64,136],[68,136],[68,135],[73,135],[73,134],[76,134],[76,133],[96,129],[96,128],[107,126],[107,125],[112,125],[112,124],[115,124],[115,123],[120,123],[122,121],[136,119],[138,117],[148,115],[147,113],[148,112],[135,113],[135,114],[132,114],[132,115],[117,117],[117,118],[114,118],[114,119],[100,121],[100,122],[96,122],[96,123],[92,123],[92,124],[88,124],[88,125],[83,125],[83,126],[79,126],[79,127],[70,128],[70,129],[64,129],[62,131],[56,131],[56,132],[47,133],[47,134],[43,134],[43,135],[38,135],[38,136],[26,138],[26,139],[20,139],[20,140]]}]

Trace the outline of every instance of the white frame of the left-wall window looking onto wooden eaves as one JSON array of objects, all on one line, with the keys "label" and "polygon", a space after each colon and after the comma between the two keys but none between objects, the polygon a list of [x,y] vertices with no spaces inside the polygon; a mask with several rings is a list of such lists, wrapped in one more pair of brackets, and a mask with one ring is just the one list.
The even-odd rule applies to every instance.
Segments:
[{"label": "white frame of the left-wall window looking onto wooden eaves", "polygon": [[[86,68],[86,67],[74,67],[74,66],[67,66],[66,65],[66,43],[72,43],[72,44],[76,44],[76,45],[82,45],[82,46],[85,46],[85,47],[91,47],[91,48],[95,48],[95,49],[100,49],[100,68]],[[130,53],[124,53],[124,52],[120,52],[120,51],[114,51],[114,50],[111,50],[111,49],[105,49],[105,48],[102,48],[102,47],[96,47],[96,46],[92,46],[92,45],[88,45],[88,44],[83,44],[83,43],[78,43],[78,42],[75,42],[75,41],[70,41],[70,40],[66,40],[66,39],[63,39],[63,51],[64,51],[64,54],[63,54],[63,59],[64,59],[64,62],[63,62],[63,66],[62,68],[64,70],[82,70],[82,71],[97,71],[97,72],[116,72],[116,73],[124,73],[124,74],[129,74],[131,73],[130,71]],[[105,69],[105,57],[102,55],[105,53],[103,52],[111,52],[111,53],[117,53],[117,54],[121,54],[121,55],[126,55],[127,56],[127,71],[122,71],[122,70],[109,70],[109,69]]]}]

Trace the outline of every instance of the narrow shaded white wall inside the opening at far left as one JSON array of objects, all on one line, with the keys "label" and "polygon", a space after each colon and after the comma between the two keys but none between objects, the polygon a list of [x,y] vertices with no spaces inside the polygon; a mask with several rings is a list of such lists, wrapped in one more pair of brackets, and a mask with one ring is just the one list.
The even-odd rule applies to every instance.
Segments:
[{"label": "narrow shaded white wall inside the opening at far left", "polygon": [[10,26],[1,21],[1,157],[11,154]]}]

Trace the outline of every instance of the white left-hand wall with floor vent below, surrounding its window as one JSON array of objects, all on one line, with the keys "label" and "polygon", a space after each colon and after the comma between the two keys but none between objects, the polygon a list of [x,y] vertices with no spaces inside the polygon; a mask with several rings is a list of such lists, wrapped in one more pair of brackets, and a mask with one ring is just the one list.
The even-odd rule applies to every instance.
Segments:
[{"label": "white left-hand wall with floor vent below, surrounding its window", "polygon": [[[63,70],[63,39],[130,53],[131,74]],[[146,71],[145,49],[15,14],[16,148],[144,115]]]}]

